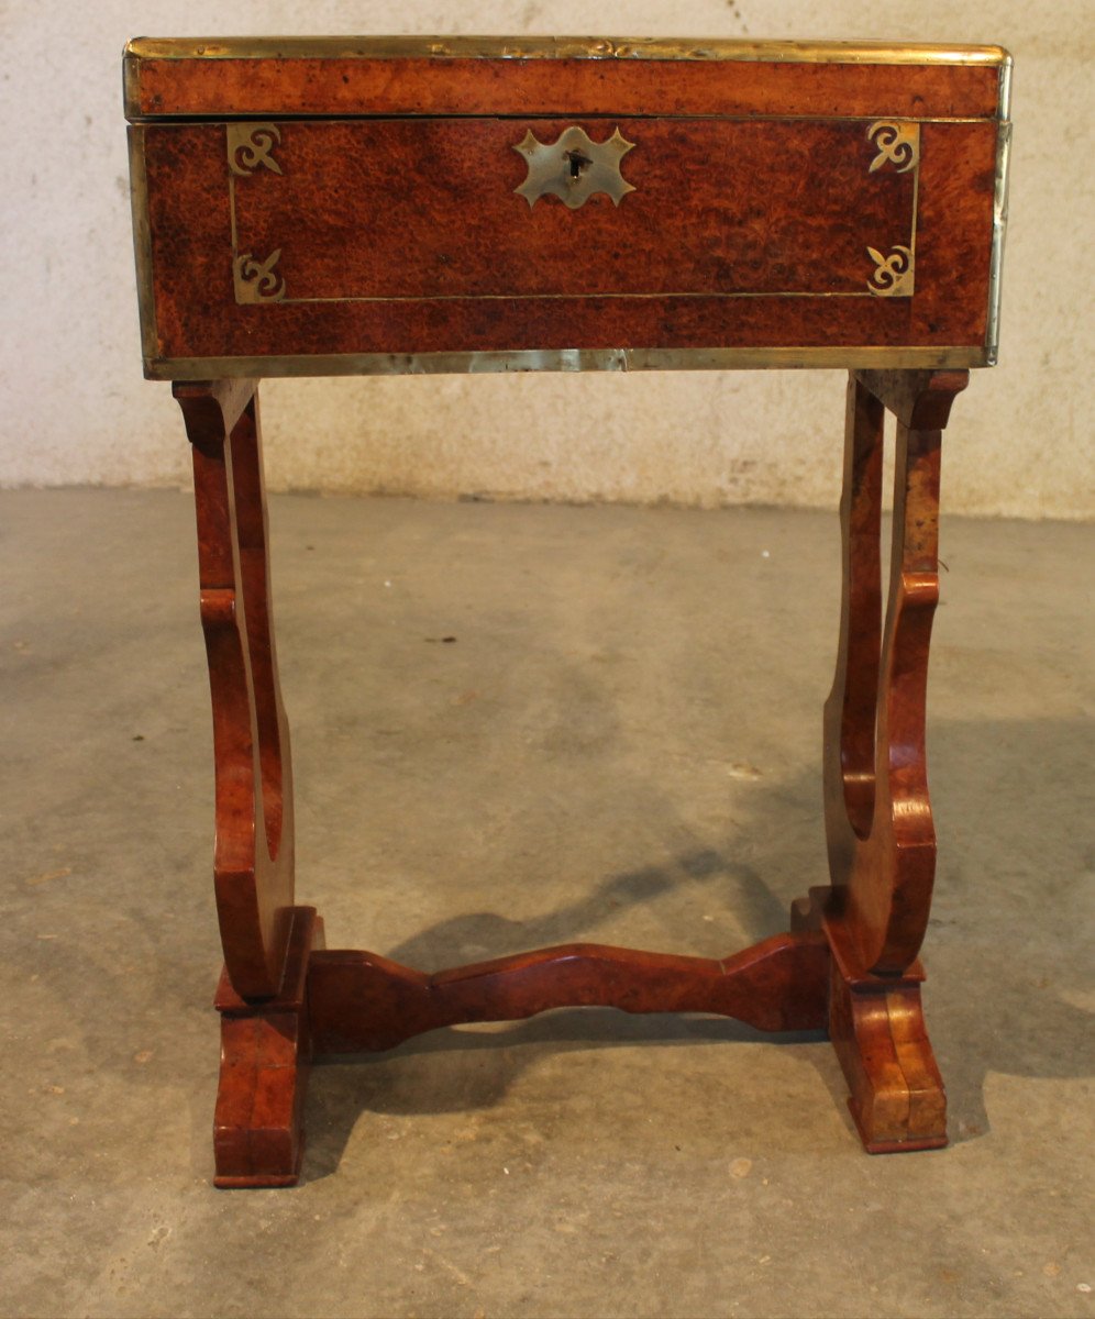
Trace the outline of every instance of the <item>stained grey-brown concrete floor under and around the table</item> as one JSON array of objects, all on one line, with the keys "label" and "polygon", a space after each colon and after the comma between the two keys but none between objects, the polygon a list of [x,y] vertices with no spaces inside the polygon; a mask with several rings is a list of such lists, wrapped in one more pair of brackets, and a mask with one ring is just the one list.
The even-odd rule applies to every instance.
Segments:
[{"label": "stained grey-brown concrete floor under and around the table", "polygon": [[[231,1194],[191,518],[0,496],[4,1315],[1091,1312],[1094,528],[945,524],[950,1149],[860,1153],[818,1037],[571,1010],[317,1070],[302,1186]],[[332,947],[722,955],[823,882],[832,517],[272,522],[298,894]]]}]

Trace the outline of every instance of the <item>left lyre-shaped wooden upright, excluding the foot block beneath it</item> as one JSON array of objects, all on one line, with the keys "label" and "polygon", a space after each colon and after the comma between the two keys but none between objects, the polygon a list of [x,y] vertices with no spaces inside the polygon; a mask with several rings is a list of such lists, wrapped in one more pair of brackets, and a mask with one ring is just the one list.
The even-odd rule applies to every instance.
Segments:
[{"label": "left lyre-shaped wooden upright, excluding the foot block beneath it", "polygon": [[266,563],[253,381],[178,384],[194,451],[198,572],[216,768],[214,877],[236,993],[281,987],[293,904],[293,789]]}]

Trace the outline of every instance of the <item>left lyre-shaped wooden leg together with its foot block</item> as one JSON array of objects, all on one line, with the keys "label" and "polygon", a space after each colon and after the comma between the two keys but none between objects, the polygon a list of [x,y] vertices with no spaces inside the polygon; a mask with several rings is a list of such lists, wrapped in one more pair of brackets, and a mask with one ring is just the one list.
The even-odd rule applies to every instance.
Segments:
[{"label": "left lyre-shaped wooden leg together with its foot block", "polygon": [[293,907],[293,786],[270,619],[255,381],[177,384],[194,451],[202,629],[216,772],[214,882],[224,975],[218,1186],[297,1179],[315,913]]}]

